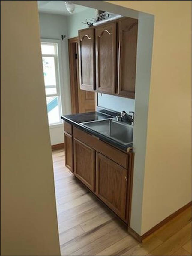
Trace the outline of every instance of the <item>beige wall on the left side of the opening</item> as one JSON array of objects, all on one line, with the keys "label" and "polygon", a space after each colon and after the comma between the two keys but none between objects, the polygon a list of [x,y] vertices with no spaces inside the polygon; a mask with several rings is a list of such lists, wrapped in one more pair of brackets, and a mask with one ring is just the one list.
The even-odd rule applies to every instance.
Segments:
[{"label": "beige wall on the left side of the opening", "polygon": [[1,1],[1,255],[60,255],[36,1]]}]

